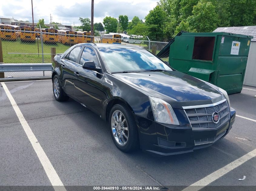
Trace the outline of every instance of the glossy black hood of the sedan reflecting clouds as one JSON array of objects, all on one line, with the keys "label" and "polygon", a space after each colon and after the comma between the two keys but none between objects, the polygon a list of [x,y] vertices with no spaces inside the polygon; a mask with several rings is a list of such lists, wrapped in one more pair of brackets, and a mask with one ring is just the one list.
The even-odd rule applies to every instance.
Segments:
[{"label": "glossy black hood of the sedan reflecting clouds", "polygon": [[178,102],[213,100],[222,93],[205,82],[178,71],[113,74],[122,81],[149,92],[164,94]]}]

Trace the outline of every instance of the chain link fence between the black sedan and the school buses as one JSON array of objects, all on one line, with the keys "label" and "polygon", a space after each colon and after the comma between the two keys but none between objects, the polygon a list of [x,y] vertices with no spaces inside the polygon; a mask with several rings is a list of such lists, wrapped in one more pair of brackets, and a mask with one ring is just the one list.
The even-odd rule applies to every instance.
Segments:
[{"label": "chain link fence between the black sedan and the school buses", "polygon": [[[51,63],[51,47],[56,54],[65,52],[78,43],[116,43],[137,46],[157,54],[168,43],[150,40],[94,37],[79,34],[45,33],[23,30],[4,30],[0,32],[4,63]],[[164,59],[168,61],[168,58]],[[5,78],[50,76],[51,71],[5,72]]]}]

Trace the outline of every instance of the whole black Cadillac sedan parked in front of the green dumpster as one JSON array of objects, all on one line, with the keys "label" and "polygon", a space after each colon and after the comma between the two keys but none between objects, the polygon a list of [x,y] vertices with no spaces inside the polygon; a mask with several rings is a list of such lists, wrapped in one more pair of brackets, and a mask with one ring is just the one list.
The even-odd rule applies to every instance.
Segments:
[{"label": "whole black Cadillac sedan parked in front of the green dumpster", "polygon": [[95,112],[125,152],[191,152],[223,138],[235,119],[226,91],[140,47],[77,44],[55,56],[52,82],[57,101],[71,97]]}]

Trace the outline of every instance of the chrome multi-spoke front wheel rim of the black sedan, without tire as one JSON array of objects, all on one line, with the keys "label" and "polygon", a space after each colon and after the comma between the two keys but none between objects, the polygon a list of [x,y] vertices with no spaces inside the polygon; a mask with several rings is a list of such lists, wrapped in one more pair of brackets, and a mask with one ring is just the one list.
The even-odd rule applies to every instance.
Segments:
[{"label": "chrome multi-spoke front wheel rim of the black sedan, without tire", "polygon": [[115,110],[111,116],[111,129],[118,145],[124,146],[128,141],[128,125],[124,114]]}]

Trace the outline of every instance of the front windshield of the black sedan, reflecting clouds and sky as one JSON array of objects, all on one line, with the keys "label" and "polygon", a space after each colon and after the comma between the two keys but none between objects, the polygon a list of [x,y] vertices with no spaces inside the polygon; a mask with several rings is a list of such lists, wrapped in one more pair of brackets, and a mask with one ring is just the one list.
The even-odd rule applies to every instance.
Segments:
[{"label": "front windshield of the black sedan, reflecting clouds and sky", "polygon": [[142,72],[171,68],[145,49],[98,48],[109,72]]}]

